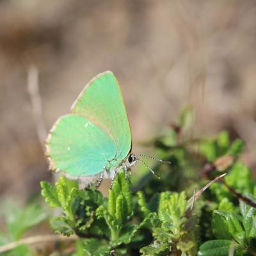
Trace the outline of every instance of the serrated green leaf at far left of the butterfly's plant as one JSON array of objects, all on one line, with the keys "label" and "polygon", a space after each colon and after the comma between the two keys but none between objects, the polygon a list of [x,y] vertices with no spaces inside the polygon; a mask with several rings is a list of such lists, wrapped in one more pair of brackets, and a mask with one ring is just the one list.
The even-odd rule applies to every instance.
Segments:
[{"label": "serrated green leaf at far left of the butterfly's plant", "polygon": [[61,207],[56,188],[46,181],[41,181],[40,184],[42,188],[41,195],[45,198],[45,202],[51,207]]}]

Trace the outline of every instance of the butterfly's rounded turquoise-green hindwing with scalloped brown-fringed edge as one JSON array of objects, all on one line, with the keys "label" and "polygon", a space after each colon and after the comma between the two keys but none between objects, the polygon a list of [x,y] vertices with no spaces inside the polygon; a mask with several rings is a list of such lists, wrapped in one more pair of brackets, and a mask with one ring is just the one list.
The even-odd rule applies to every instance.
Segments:
[{"label": "butterfly's rounded turquoise-green hindwing with scalloped brown-fringed edge", "polygon": [[46,145],[52,170],[75,176],[101,172],[116,154],[108,134],[79,115],[62,116],[52,127]]}]

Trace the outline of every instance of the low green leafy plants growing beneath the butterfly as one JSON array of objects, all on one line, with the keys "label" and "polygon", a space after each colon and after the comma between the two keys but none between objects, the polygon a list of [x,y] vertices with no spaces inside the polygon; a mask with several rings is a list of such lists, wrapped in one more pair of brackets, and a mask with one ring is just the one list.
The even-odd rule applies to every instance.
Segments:
[{"label": "low green leafy plants growing beneath the butterfly", "polygon": [[[193,116],[192,108],[184,109],[176,124],[150,141],[159,158],[172,162],[153,166],[161,179],[142,170],[142,177],[132,175],[130,186],[120,172],[106,197],[94,186],[79,190],[76,181],[65,177],[55,185],[42,181],[45,202],[59,213],[51,217],[51,227],[60,236],[72,237],[69,250],[55,248],[52,253],[256,255],[256,186],[250,168],[240,160],[243,141],[231,141],[227,131],[191,138]],[[227,175],[205,189],[222,173]],[[0,243],[20,239],[45,216],[38,218],[29,224],[17,214],[8,224],[10,234],[1,234]],[[26,245],[15,250],[5,254],[33,255]]]}]

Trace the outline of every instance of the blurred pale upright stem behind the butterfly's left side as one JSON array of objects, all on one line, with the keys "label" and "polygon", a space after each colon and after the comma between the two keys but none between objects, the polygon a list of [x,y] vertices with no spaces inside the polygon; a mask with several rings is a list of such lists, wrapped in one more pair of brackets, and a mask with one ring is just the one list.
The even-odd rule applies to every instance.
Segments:
[{"label": "blurred pale upright stem behind the butterfly's left side", "polygon": [[31,100],[36,133],[42,148],[44,149],[44,141],[47,136],[47,131],[44,124],[44,118],[42,116],[42,100],[39,93],[38,69],[35,66],[29,67],[28,70],[28,93]]}]

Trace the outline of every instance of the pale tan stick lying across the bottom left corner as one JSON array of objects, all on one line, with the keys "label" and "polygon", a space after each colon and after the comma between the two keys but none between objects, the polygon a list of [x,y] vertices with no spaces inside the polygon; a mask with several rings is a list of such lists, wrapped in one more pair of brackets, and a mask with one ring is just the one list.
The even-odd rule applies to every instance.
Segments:
[{"label": "pale tan stick lying across the bottom left corner", "polygon": [[10,251],[15,247],[21,244],[35,244],[35,243],[47,243],[47,242],[56,242],[56,241],[73,241],[76,240],[77,236],[61,236],[61,235],[45,235],[45,236],[31,236],[26,237],[24,239],[20,239],[19,241],[15,241],[12,243],[5,244],[0,247],[0,253]]}]

